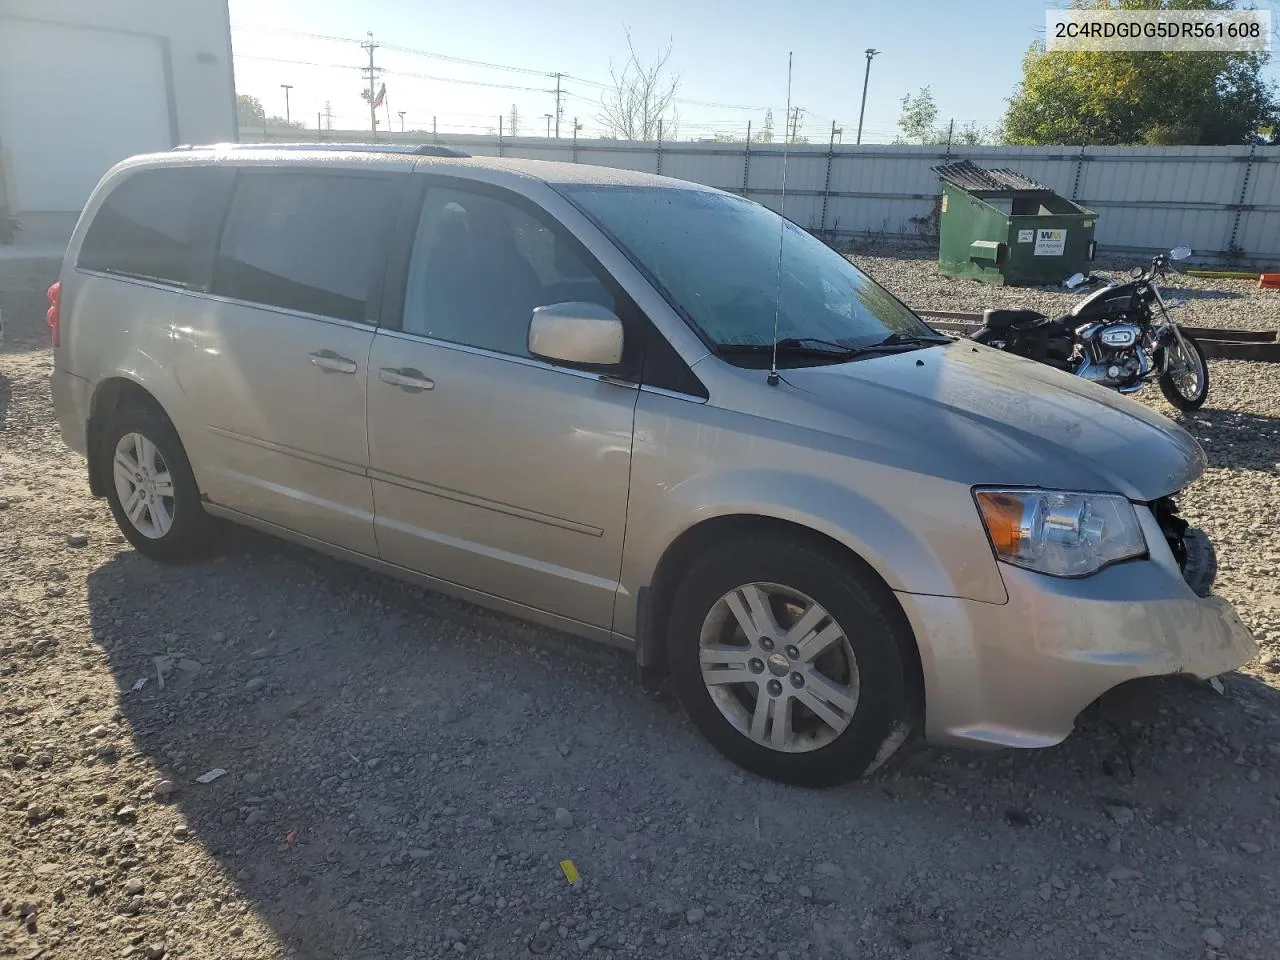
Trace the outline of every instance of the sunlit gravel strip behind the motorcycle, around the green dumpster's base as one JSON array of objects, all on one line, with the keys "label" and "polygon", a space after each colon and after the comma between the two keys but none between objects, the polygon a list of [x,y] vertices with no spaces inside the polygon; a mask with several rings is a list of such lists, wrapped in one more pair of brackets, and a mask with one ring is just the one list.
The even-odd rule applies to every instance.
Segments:
[{"label": "sunlit gravel strip behind the motorcycle, around the green dumpster's base", "polygon": [[[905,247],[884,253],[877,246],[876,253],[856,253],[852,259],[916,310],[979,312],[986,307],[1030,307],[1056,316],[1070,310],[1088,292],[1061,287],[988,287],[977,280],[941,276],[937,248]],[[1125,278],[1130,266],[1142,265],[1135,260],[1098,257],[1093,273]],[[1257,280],[1179,274],[1170,275],[1160,289],[1166,300],[1185,301],[1172,312],[1187,326],[1280,330],[1280,291],[1260,291]]]}]

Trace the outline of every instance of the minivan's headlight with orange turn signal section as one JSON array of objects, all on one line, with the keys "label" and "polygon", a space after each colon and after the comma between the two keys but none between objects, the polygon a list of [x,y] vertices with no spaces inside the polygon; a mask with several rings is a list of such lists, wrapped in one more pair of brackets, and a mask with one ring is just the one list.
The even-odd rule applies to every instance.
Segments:
[{"label": "minivan's headlight with orange turn signal section", "polygon": [[977,490],[996,557],[1056,577],[1080,577],[1140,557],[1147,541],[1124,497],[1057,490]]}]

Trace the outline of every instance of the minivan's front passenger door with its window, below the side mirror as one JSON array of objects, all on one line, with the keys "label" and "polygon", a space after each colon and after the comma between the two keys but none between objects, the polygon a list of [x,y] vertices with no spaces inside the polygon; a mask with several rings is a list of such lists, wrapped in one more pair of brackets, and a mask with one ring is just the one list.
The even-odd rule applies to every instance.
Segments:
[{"label": "minivan's front passenger door with its window, below the side mirror", "polygon": [[515,195],[430,186],[399,330],[374,337],[369,449],[383,559],[609,628],[635,385],[527,351],[536,306],[612,284]]}]

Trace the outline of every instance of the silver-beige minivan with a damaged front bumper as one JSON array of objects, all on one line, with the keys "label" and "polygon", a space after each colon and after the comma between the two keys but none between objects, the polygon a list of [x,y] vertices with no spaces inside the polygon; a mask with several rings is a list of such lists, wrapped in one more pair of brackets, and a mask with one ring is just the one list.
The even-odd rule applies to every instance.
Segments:
[{"label": "silver-beige minivan with a damaged front bumper", "polygon": [[1171,421],[937,334],[741,197],[431,152],[99,184],[52,396],[140,552],[230,520],[621,645],[806,785],[913,730],[1057,744],[1117,684],[1253,657],[1188,582],[1204,456]]}]

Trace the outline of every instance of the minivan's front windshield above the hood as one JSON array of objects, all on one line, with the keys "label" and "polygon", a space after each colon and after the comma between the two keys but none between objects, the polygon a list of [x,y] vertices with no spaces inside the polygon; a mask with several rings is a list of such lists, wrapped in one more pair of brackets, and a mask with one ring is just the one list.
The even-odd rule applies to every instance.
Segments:
[{"label": "minivan's front windshield above the hood", "polygon": [[776,307],[778,339],[803,348],[780,353],[780,366],[945,340],[849,260],[759,204],[671,187],[559,189],[735,364],[760,365]]}]

